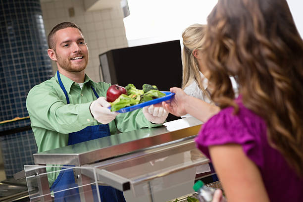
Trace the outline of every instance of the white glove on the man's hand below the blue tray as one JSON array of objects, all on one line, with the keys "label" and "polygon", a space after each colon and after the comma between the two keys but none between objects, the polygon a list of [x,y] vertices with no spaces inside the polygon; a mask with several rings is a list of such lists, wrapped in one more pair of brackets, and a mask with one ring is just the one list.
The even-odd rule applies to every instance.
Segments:
[{"label": "white glove on the man's hand below the blue tray", "polygon": [[143,114],[147,120],[152,123],[164,123],[168,112],[163,107],[154,107],[153,105],[143,107]]}]

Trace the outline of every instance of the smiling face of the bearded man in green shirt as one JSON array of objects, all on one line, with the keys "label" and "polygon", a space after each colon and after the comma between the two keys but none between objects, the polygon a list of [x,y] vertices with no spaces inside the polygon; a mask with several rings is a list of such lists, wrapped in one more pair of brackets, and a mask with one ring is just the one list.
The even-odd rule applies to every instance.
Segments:
[{"label": "smiling face of the bearded man in green shirt", "polygon": [[86,68],[89,51],[80,30],[73,27],[58,30],[54,40],[59,67],[69,72],[81,72]]}]

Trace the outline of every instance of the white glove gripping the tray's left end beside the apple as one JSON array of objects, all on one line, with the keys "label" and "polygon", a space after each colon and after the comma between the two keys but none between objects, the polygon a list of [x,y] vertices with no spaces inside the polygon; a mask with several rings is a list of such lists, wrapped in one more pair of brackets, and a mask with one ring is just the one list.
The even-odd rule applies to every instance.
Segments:
[{"label": "white glove gripping the tray's left end beside the apple", "polygon": [[108,109],[109,106],[110,103],[108,103],[104,97],[99,97],[96,101],[91,103],[91,113],[99,123],[110,123],[118,115],[118,112],[110,111],[110,109]]}]

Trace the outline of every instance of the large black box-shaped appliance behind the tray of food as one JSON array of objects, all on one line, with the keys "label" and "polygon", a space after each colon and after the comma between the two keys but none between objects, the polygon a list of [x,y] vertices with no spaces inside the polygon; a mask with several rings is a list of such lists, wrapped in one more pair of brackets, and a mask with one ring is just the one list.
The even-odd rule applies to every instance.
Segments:
[{"label": "large black box-shaped appliance behind the tray of food", "polygon": [[[182,60],[179,40],[136,47],[108,50],[101,53],[100,67],[103,81],[137,89],[143,84],[156,85],[160,91],[181,88]],[[180,117],[169,114],[167,121]]]}]

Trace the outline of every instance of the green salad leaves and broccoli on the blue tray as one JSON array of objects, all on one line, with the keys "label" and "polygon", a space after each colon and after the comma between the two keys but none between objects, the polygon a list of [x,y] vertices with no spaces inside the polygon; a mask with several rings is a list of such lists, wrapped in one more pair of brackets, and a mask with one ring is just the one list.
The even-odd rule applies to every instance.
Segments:
[{"label": "green salad leaves and broccoli on the blue tray", "polygon": [[165,96],[165,93],[158,91],[156,86],[149,84],[143,85],[144,90],[136,89],[134,84],[128,84],[126,89],[126,94],[121,94],[119,98],[115,101],[110,102],[111,111],[117,111],[121,108],[139,104],[145,101],[151,101],[156,98],[162,98]]}]

